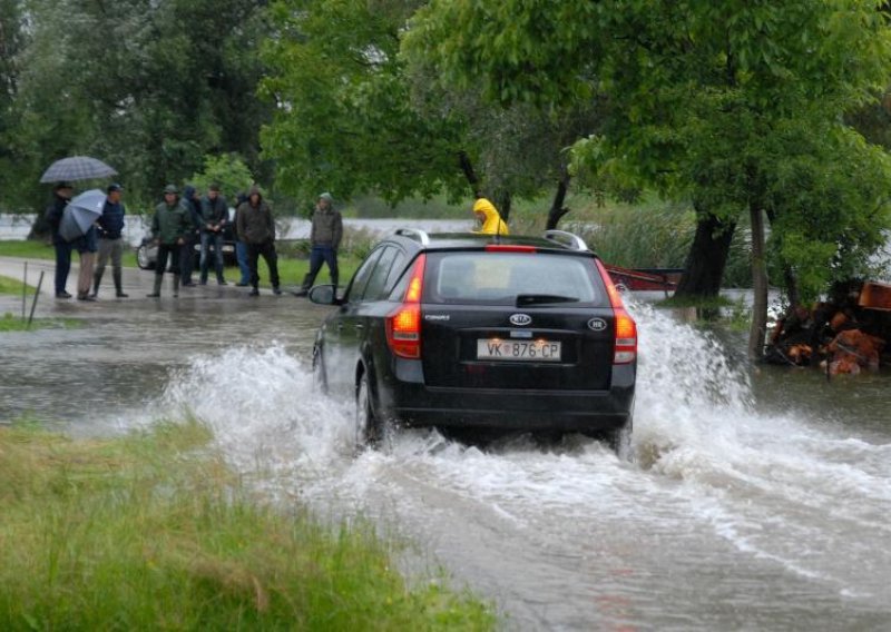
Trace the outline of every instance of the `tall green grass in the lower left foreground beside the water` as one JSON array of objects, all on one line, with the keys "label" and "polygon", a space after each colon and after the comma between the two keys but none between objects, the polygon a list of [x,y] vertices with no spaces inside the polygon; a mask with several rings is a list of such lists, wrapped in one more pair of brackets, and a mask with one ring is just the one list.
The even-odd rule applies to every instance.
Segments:
[{"label": "tall green grass in the lower left foreground beside the water", "polygon": [[491,630],[489,605],[409,585],[393,544],[270,505],[200,424],[112,440],[0,426],[2,630]]}]

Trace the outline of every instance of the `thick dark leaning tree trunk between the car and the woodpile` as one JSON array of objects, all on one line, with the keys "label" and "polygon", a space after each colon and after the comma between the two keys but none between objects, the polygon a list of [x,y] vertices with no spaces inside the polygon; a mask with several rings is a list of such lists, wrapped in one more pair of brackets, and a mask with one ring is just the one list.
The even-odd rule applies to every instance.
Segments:
[{"label": "thick dark leaning tree trunk between the car and the woodpile", "polygon": [[696,236],[693,238],[675,296],[709,297],[717,296],[721,292],[721,280],[736,223],[724,221],[711,213],[702,213],[698,207],[696,211],[699,217]]}]

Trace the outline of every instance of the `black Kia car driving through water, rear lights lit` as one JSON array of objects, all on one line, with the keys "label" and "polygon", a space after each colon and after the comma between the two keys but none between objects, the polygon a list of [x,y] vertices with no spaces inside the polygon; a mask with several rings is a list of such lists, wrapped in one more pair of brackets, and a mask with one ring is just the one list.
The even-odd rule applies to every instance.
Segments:
[{"label": "black Kia car driving through water, rear lights lit", "polygon": [[581,433],[623,456],[637,326],[577,236],[428,235],[378,244],[313,348],[315,383],[355,402],[356,443],[386,425],[484,434]]}]

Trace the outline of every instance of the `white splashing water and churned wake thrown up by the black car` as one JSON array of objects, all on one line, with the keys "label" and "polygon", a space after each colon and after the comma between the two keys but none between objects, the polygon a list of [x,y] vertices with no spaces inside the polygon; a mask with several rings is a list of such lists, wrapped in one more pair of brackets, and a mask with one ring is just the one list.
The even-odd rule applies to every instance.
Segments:
[{"label": "white splashing water and churned wake thrown up by the black car", "polygon": [[[385,450],[355,457],[353,402],[315,394],[310,367],[278,345],[194,358],[170,377],[163,407],[207,423],[234,466],[274,480],[285,495],[388,515],[482,584],[509,581],[507,593],[538,595],[516,598],[523,603],[540,596],[542,580],[525,589],[515,562],[555,582],[555,600],[578,591],[589,601],[585,591],[599,590],[603,571],[566,576],[541,559],[578,555],[585,542],[623,551],[631,566],[670,569],[688,551],[693,562],[681,567],[732,566],[746,590],[773,577],[779,584],[765,584],[755,601],[775,599],[779,611],[787,611],[783,591],[801,584],[832,595],[820,599],[866,600],[866,610],[869,600],[887,603],[891,446],[794,413],[758,412],[745,368],[713,337],[647,305],[629,308],[640,332],[634,466],[579,437],[546,450],[520,438],[481,451],[432,431],[396,433]],[[470,541],[450,545],[451,530]],[[621,545],[609,549],[610,539]],[[659,546],[639,544],[654,539]],[[663,616],[665,595],[679,589],[656,575],[628,590],[636,599],[662,594],[654,616]],[[702,599],[719,599],[707,596],[716,590],[703,585]],[[683,601],[670,608],[683,610]]]}]

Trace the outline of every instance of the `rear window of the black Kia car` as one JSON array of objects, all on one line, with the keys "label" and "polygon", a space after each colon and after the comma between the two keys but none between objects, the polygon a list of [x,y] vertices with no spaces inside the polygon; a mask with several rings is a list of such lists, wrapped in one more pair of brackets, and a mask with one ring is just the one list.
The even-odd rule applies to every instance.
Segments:
[{"label": "rear window of the black Kia car", "polygon": [[425,277],[427,303],[517,305],[521,297],[519,300],[529,304],[608,304],[590,257],[540,251],[437,253],[428,258]]}]

